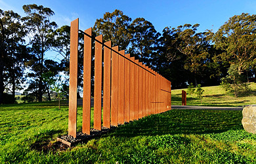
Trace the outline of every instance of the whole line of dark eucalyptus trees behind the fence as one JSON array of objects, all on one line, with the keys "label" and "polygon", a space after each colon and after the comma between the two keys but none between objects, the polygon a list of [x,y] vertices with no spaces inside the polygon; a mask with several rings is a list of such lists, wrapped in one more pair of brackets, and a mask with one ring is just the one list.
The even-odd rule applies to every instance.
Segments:
[{"label": "whole line of dark eucalyptus trees behind the fence", "polygon": [[[70,26],[58,28],[51,21],[53,10],[47,7],[33,4],[24,5],[23,9],[24,17],[0,9],[0,104],[14,103],[15,91],[22,89],[23,83],[28,85],[25,100],[41,102],[46,95],[51,101],[51,88],[59,73],[69,74]],[[119,50],[154,68],[172,82],[172,89],[185,88],[189,83],[236,84],[238,80],[247,82],[255,75],[256,15],[232,16],[216,33],[199,32],[199,26],[166,27],[159,33],[148,20],[132,20],[121,10],[115,10],[96,20],[93,35],[102,34],[103,40],[112,41],[113,47],[118,45]],[[47,51],[55,51],[62,60],[45,58]],[[78,52],[82,58],[82,34],[79,34]],[[83,60],[78,61],[81,87]],[[68,91],[68,81],[62,85]]]}]

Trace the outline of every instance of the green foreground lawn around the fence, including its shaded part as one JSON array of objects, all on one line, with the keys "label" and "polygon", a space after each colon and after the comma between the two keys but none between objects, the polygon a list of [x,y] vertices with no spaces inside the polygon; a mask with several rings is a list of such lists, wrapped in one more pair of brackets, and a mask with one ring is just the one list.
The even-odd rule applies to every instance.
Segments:
[{"label": "green foreground lawn around the fence, including its shaded part", "polygon": [[[256,162],[256,136],[242,128],[241,111],[171,110],[66,151],[35,150],[67,134],[68,107],[63,104],[61,110],[58,102],[0,106],[0,163]],[[81,115],[79,107],[79,130]]]}]

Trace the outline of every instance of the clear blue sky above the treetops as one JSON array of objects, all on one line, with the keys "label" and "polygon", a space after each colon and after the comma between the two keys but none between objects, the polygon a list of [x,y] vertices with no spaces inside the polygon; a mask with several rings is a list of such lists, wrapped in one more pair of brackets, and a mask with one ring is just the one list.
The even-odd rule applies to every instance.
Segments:
[{"label": "clear blue sky above the treetops", "polygon": [[231,16],[248,12],[255,14],[254,0],[164,0],[164,1],[14,1],[0,0],[0,9],[14,10],[24,16],[22,5],[35,3],[51,8],[55,15],[52,20],[58,26],[70,24],[79,18],[79,28],[85,30],[94,25],[96,18],[102,18],[105,12],[122,10],[133,20],[143,17],[154,24],[161,32],[166,26],[177,27],[183,24],[200,24],[200,31],[217,31]]}]

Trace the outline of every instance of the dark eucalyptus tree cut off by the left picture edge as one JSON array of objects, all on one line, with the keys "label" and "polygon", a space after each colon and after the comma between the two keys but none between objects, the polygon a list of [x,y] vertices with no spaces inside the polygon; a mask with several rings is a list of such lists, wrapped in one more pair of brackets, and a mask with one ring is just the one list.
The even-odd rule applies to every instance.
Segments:
[{"label": "dark eucalyptus tree cut off by the left picture edge", "polygon": [[12,10],[0,9],[0,104],[4,103],[3,92],[9,87],[14,102],[15,90],[23,82],[23,63],[28,57],[25,36],[26,27],[21,16]]}]

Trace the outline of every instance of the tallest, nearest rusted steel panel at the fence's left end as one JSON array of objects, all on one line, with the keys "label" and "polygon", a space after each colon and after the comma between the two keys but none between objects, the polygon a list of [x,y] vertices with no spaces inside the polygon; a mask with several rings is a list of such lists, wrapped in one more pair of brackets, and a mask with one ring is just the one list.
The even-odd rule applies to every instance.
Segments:
[{"label": "tallest, nearest rusted steel panel at the fence's left end", "polygon": [[70,26],[70,97],[68,110],[68,134],[76,138],[77,121],[77,57],[78,18]]}]

